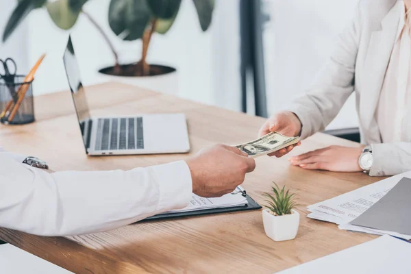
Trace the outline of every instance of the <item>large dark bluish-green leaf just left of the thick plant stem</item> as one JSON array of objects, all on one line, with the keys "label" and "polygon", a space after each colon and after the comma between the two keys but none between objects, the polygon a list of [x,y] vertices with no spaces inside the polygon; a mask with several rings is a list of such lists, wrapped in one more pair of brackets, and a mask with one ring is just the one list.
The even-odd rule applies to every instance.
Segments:
[{"label": "large dark bluish-green leaf just left of the thick plant stem", "polygon": [[151,18],[146,0],[112,0],[108,10],[110,28],[123,40],[142,38]]}]

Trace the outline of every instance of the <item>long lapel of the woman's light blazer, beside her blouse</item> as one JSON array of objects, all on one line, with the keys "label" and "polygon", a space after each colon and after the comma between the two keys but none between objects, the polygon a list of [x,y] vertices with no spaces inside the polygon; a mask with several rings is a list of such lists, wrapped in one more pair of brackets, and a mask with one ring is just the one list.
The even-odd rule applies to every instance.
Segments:
[{"label": "long lapel of the woman's light blazer, beside her blouse", "polygon": [[360,101],[360,117],[363,121],[364,139],[368,142],[381,142],[377,121],[375,121],[375,109],[379,99],[388,62],[397,38],[399,26],[399,14],[401,14],[402,1],[397,1],[384,17],[378,29],[371,34],[369,49],[364,63],[366,71],[366,86],[362,92]]}]

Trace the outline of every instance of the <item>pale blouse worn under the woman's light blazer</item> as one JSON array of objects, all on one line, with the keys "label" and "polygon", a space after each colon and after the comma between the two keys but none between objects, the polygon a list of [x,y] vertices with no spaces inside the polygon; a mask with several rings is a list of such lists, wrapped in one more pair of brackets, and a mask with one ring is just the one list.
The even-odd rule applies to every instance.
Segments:
[{"label": "pale blouse worn under the woman's light blazer", "polygon": [[410,142],[411,132],[411,16],[403,5],[390,63],[377,106],[377,124],[382,142]]}]

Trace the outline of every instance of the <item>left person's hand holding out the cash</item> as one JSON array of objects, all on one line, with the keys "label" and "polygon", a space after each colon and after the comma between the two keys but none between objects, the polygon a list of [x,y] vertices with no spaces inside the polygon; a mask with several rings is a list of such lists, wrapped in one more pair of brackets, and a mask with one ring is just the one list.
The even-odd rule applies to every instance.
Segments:
[{"label": "left person's hand holding out the cash", "polygon": [[186,161],[191,171],[192,192],[201,197],[221,197],[232,192],[256,162],[236,147],[215,145]]}]

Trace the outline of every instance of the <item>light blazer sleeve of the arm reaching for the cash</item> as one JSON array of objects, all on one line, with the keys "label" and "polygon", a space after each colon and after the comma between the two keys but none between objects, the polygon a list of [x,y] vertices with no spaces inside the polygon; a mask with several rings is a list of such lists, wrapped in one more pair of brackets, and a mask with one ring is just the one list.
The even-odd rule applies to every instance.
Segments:
[{"label": "light blazer sleeve of the arm reaching for the cash", "polygon": [[334,53],[327,60],[305,95],[286,108],[302,124],[301,138],[322,131],[335,118],[354,90],[356,58],[360,42],[360,6],[353,21],[340,34]]}]

